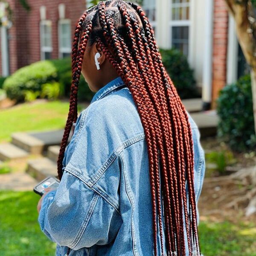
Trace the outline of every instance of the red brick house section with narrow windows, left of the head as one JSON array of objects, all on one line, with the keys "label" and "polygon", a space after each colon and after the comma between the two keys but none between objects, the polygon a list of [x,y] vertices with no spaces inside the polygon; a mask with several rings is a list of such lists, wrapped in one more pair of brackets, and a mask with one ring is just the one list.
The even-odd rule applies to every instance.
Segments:
[{"label": "red brick house section with narrow windows, left of the head", "polygon": [[7,6],[12,10],[11,24],[0,28],[2,76],[35,61],[70,55],[73,30],[86,10],[85,0],[26,0],[26,3],[30,10],[20,0],[0,1],[0,13]]}]

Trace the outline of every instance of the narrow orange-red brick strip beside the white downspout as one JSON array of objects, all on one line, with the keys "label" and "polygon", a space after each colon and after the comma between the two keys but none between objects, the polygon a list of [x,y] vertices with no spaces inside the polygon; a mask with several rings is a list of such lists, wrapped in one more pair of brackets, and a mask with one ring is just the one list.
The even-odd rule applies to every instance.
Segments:
[{"label": "narrow orange-red brick strip beside the white downspout", "polygon": [[213,58],[212,58],[212,103],[226,84],[228,44],[228,12],[224,0],[214,1]]}]

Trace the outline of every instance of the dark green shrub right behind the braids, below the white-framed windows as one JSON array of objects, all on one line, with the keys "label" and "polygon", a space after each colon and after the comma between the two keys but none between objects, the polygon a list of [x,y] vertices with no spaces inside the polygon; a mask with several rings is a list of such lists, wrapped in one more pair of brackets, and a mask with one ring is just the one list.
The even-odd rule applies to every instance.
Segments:
[{"label": "dark green shrub right behind the braids, below the white-framed windows", "polygon": [[172,79],[181,99],[199,96],[193,71],[186,56],[177,49],[160,49],[164,67]]}]

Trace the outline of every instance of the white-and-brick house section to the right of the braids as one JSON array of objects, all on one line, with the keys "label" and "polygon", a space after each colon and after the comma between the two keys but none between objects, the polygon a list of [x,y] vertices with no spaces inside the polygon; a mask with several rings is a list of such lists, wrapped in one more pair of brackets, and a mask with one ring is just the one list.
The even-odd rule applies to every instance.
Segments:
[{"label": "white-and-brick house section to the right of the braids", "polygon": [[235,23],[224,0],[143,0],[157,44],[175,47],[188,58],[203,108],[215,106],[218,93],[245,72]]}]

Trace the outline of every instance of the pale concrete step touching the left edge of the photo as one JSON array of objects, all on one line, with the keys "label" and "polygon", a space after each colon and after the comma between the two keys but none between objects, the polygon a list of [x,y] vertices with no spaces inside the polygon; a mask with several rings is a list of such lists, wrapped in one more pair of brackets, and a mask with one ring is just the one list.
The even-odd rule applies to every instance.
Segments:
[{"label": "pale concrete step touching the left edge of the photo", "polygon": [[28,152],[11,143],[0,144],[0,160],[21,159],[28,157],[28,155]]}]

